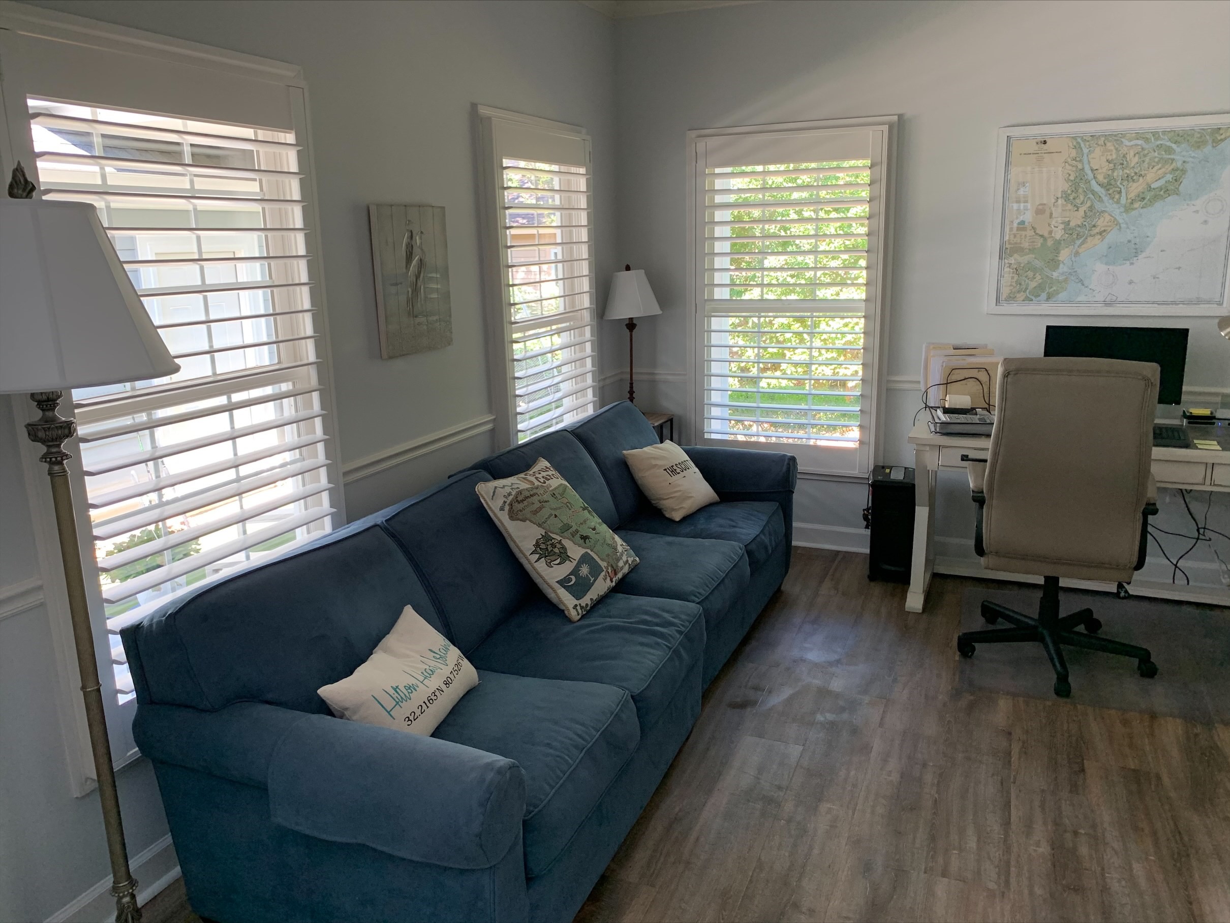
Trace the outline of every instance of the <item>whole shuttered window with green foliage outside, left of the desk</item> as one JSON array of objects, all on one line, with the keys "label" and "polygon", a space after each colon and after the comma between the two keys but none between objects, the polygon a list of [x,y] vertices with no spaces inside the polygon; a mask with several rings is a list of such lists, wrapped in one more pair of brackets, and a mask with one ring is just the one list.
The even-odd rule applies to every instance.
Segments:
[{"label": "whole shuttered window with green foliage outside, left of the desk", "polygon": [[868,471],[891,128],[694,133],[707,444]]}]

